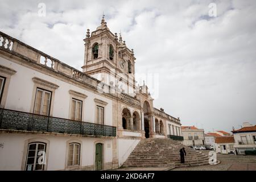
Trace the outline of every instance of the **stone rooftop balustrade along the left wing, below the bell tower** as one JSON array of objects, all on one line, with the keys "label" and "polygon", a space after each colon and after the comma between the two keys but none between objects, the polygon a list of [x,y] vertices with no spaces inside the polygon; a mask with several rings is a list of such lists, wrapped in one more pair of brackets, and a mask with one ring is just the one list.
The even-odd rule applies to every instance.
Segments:
[{"label": "stone rooftop balustrade along the left wing, below the bell tower", "polygon": [[128,94],[121,93],[115,94],[117,88],[115,86],[109,86],[103,84],[101,81],[96,78],[90,77],[85,73],[75,69],[52,56],[47,55],[46,53],[35,49],[34,47],[28,46],[27,44],[20,42],[18,39],[15,39],[3,32],[0,31],[0,49],[4,51],[13,53],[13,55],[22,57],[24,60],[28,60],[34,64],[39,64],[51,71],[60,73],[69,78],[75,79],[77,81],[83,82],[86,85],[91,86],[94,89],[97,89],[100,93],[114,94],[121,100],[129,102],[135,106],[140,106],[140,101],[136,98],[129,96]]}]

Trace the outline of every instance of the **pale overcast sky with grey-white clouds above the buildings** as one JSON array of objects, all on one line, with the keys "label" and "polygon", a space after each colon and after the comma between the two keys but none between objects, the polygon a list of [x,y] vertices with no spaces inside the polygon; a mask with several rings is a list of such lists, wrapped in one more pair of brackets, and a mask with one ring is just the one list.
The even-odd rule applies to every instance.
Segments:
[{"label": "pale overcast sky with grey-white clouds above the buildings", "polygon": [[[46,16],[39,16],[39,3]],[[217,16],[208,5],[216,3]],[[1,1],[0,30],[81,69],[86,29],[122,32],[137,73],[159,76],[155,107],[183,125],[256,124],[256,1]]]}]

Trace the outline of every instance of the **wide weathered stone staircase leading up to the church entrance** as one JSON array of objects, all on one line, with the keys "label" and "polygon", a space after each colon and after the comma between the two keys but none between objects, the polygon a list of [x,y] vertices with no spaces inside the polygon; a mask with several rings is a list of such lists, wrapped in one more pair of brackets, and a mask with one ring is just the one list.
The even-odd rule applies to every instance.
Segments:
[{"label": "wide weathered stone staircase leading up to the church entrance", "polygon": [[[180,148],[187,152],[185,163],[180,163]],[[197,167],[209,165],[209,157],[168,138],[142,139],[122,167]]]}]

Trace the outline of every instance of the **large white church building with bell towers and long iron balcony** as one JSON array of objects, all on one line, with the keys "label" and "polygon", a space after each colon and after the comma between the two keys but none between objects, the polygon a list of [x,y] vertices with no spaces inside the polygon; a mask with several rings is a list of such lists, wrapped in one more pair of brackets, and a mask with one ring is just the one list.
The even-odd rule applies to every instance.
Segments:
[{"label": "large white church building with bell towers and long iron balcony", "polygon": [[135,86],[133,50],[104,18],[84,39],[83,72],[3,32],[0,40],[0,170],[112,169],[141,139],[182,139],[180,119]]}]

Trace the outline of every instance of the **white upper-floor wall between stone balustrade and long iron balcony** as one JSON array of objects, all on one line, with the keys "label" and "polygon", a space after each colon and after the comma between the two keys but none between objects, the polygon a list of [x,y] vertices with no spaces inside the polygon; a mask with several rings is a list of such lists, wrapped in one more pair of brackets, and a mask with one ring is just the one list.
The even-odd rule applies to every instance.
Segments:
[{"label": "white upper-floor wall between stone balustrade and long iron balcony", "polygon": [[88,96],[84,103],[84,121],[94,122],[95,118],[95,102],[94,98],[108,102],[105,106],[105,125],[112,125],[112,100],[102,97],[99,94],[90,92],[90,90],[81,89],[78,86],[69,84],[67,82],[58,80],[51,76],[45,75],[33,69],[24,67],[22,65],[13,63],[0,57],[0,64],[5,67],[14,69],[16,71],[15,75],[11,77],[7,100],[6,109],[13,109],[19,111],[30,112],[32,92],[34,88],[33,77],[38,77],[43,80],[52,82],[53,84],[59,85],[59,88],[55,91],[55,98],[53,103],[53,113],[54,117],[69,118],[69,100],[70,94],[69,90],[75,90]]}]

